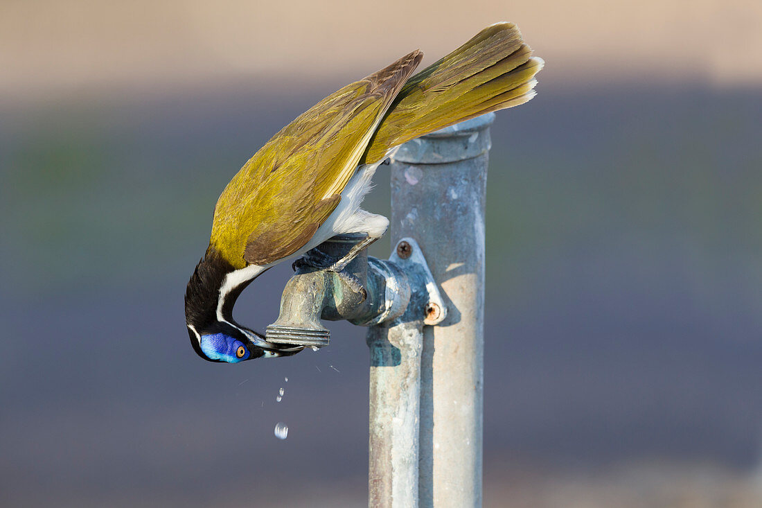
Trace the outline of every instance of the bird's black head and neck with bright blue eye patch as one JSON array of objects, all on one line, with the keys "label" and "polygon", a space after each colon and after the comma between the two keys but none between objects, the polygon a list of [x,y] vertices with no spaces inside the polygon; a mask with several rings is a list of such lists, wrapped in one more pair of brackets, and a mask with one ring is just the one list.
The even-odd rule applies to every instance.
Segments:
[{"label": "bird's black head and neck with bright blue eye patch", "polygon": [[205,360],[239,363],[253,358],[289,356],[303,349],[267,342],[261,334],[233,320],[235,300],[263,271],[245,272],[246,269],[235,270],[210,247],[188,281],[185,324],[191,346]]}]

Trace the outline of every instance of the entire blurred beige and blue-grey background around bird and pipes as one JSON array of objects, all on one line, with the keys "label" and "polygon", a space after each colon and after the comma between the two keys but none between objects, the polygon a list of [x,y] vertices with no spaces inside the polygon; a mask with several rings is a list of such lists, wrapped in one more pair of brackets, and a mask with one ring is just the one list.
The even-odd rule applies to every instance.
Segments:
[{"label": "entire blurred beige and blue-grey background around bird and pipes", "polygon": [[213,365],[184,288],[280,127],[501,20],[546,69],[492,127],[485,506],[762,506],[752,0],[2,0],[0,505],[363,506],[364,330]]}]

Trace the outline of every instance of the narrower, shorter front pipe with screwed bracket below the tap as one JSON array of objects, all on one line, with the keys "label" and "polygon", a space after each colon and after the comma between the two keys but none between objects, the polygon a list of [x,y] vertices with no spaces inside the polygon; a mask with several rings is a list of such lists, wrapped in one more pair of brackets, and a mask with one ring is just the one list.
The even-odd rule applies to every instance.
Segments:
[{"label": "narrower, shorter front pipe with screwed bracket below the tap", "polygon": [[411,281],[410,301],[402,316],[368,330],[368,506],[411,508],[418,506],[423,329],[444,320],[447,309],[415,240],[399,239],[389,262]]}]

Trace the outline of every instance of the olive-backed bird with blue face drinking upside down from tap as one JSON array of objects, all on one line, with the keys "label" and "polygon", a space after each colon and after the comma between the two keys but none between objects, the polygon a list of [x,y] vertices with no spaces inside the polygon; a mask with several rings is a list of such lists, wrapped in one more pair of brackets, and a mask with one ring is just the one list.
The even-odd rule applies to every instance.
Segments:
[{"label": "olive-backed bird with blue face drinking upside down from tap", "polygon": [[233,319],[242,291],[268,268],[332,236],[365,233],[342,259],[324,260],[322,268],[340,272],[389,227],[386,217],[360,207],[378,166],[402,143],[529,101],[544,65],[508,22],[486,27],[414,75],[422,58],[415,50],[328,95],[226,185],[185,292],[188,336],[201,358],[239,363],[301,351],[267,342]]}]

